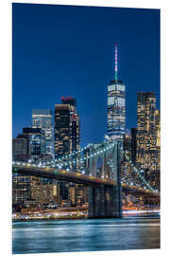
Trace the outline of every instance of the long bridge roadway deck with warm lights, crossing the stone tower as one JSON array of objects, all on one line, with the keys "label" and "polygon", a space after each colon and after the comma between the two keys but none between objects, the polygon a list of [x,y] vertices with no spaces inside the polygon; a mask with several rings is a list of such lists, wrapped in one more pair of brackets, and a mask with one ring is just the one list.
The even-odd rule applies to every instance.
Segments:
[{"label": "long bridge roadway deck with warm lights, crossing the stone tower", "polygon": [[[12,172],[17,174],[25,174],[25,175],[32,175],[32,176],[39,176],[45,178],[54,178],[58,180],[64,180],[67,182],[74,182],[79,184],[84,184],[86,186],[94,186],[98,187],[102,184],[106,187],[113,187],[116,186],[116,182],[113,180],[89,176],[85,174],[79,173],[71,173],[65,170],[57,170],[51,167],[33,167],[33,166],[21,166],[15,165],[12,166]],[[147,196],[147,197],[160,197],[159,192],[151,192],[148,190],[144,190],[142,188],[138,188],[136,186],[129,186],[126,183],[122,184],[122,192],[129,192],[136,195]]]}]

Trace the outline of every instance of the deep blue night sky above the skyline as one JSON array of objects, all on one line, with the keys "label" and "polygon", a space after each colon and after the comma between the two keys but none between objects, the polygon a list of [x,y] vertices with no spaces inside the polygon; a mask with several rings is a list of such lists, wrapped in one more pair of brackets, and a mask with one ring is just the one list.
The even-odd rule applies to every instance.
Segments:
[{"label": "deep blue night sky above the skyline", "polygon": [[160,108],[160,10],[13,4],[13,137],[31,125],[33,108],[54,111],[76,98],[81,145],[104,138],[107,84],[126,84],[127,128],[136,126],[137,91],[155,91]]}]

